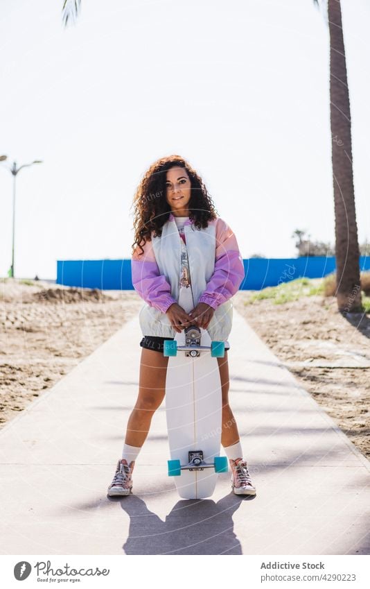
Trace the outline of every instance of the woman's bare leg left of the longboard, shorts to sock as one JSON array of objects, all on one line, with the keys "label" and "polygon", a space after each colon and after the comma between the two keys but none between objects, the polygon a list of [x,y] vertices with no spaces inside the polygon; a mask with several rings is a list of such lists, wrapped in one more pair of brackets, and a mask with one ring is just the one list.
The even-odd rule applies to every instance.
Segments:
[{"label": "woman's bare leg left of the longboard, shorts to sock", "polygon": [[164,400],[168,357],[142,348],[139,394],[127,422],[125,444],[141,447],[148,436],[152,416]]}]

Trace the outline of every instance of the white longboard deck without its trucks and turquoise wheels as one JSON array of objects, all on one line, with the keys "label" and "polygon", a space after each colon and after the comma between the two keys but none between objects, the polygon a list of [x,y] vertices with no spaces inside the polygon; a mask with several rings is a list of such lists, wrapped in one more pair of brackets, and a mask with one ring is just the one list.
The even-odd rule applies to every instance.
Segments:
[{"label": "white longboard deck without its trucks and turquoise wheels", "polygon": [[[190,290],[190,289],[189,289]],[[179,302],[186,312],[192,305]],[[186,308],[188,307],[188,308]],[[190,307],[190,308],[189,308]],[[201,345],[211,345],[206,330],[201,330]],[[184,330],[176,334],[177,345],[185,344]],[[199,357],[186,357],[185,352],[169,357],[166,375],[166,419],[170,458],[188,464],[189,450],[202,450],[204,460],[213,463],[220,456],[222,392],[217,358],[210,350]],[[204,499],[215,489],[218,475],[213,468],[182,470],[173,477],[177,492],[184,499]]]}]

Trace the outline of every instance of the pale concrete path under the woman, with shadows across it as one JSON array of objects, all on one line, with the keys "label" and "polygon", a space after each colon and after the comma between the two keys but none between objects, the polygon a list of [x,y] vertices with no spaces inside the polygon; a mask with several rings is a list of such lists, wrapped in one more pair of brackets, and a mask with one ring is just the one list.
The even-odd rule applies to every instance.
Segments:
[{"label": "pale concrete path under the woman, with shadows across it", "polygon": [[234,309],[230,403],[256,497],[168,478],[164,404],[109,499],[141,348],[134,318],[0,432],[1,554],[370,554],[370,464]]}]

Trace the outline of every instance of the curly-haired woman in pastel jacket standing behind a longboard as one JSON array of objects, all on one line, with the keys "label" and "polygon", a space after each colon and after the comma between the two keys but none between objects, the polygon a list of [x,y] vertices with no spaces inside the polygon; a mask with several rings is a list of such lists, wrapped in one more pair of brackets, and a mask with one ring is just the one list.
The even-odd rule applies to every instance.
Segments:
[{"label": "curly-haired woman in pastel jacket standing behind a longboard", "polygon": [[[229,458],[232,490],[236,495],[255,495],[228,398],[230,299],[245,275],[234,233],[216,215],[201,178],[179,155],[152,164],[133,204],[132,284],[146,301],[139,314],[143,349],[139,395],[108,495],[132,492],[136,457],[165,395],[168,357],[163,355],[163,342],[188,325],[207,330],[212,340],[225,341],[224,358],[217,359],[222,384],[221,443]],[[178,300],[182,289],[189,288],[194,306],[186,313]]]}]

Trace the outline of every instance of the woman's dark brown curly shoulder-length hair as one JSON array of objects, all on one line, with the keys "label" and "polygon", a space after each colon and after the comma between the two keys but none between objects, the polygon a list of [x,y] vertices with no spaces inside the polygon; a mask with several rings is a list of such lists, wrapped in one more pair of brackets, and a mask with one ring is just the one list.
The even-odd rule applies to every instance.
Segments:
[{"label": "woman's dark brown curly shoulder-length hair", "polygon": [[[168,155],[154,162],[146,171],[136,189],[132,207],[134,207],[134,243],[143,253],[146,241],[162,234],[162,227],[168,221],[171,207],[166,200],[166,172],[173,167],[185,168],[191,180],[191,198],[188,203],[189,219],[197,229],[206,228],[208,221],[217,218],[217,210],[213,205],[202,178],[183,157]],[[139,254],[139,255],[141,255]]]}]

